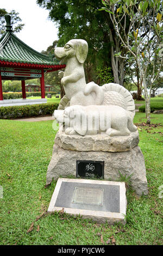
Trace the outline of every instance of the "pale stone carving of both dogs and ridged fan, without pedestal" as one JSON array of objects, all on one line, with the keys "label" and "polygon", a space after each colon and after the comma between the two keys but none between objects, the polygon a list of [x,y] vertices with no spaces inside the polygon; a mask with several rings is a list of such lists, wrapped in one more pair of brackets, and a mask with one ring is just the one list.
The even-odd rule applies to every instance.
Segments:
[{"label": "pale stone carving of both dogs and ridged fan, without pedestal", "polygon": [[[66,123],[65,133],[67,135],[96,135],[101,131],[99,123],[100,115],[108,123],[103,132],[108,136],[127,136],[130,132],[136,131],[133,124],[135,115],[135,103],[131,94],[120,84],[108,83],[99,87],[96,83],[86,84],[84,74],[84,61],[87,56],[87,42],[82,39],[73,39],[67,42],[64,47],[55,47],[54,55],[60,60],[60,63],[66,63],[65,72],[60,71],[59,77],[61,84],[65,89],[65,96],[62,98],[58,111],[54,111],[54,117],[58,122]],[[64,111],[65,109],[65,111]],[[77,127],[72,112],[78,113],[78,119],[83,117],[85,125]],[[89,114],[88,114],[89,113]],[[94,114],[93,114],[94,113]],[[105,114],[104,114],[105,113]],[[89,117],[94,115],[92,120],[92,129],[88,127]],[[63,121],[64,119],[64,121]],[[81,126],[81,125],[80,125]]]}]

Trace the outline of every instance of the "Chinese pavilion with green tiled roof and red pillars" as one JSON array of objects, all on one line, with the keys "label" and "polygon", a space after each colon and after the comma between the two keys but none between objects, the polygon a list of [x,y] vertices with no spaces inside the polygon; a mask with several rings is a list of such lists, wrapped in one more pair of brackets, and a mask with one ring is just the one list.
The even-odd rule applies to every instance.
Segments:
[{"label": "Chinese pavilion with green tiled roof and red pillars", "polygon": [[[5,103],[7,101],[3,100],[2,80],[20,80],[22,83],[22,97],[23,100],[25,100],[25,81],[40,78],[41,99],[44,99],[43,102],[46,102],[45,72],[63,69],[65,65],[59,65],[58,60],[54,59],[51,53],[49,55],[42,54],[24,44],[24,42],[12,33],[11,16],[5,14],[4,17],[7,25],[6,32],[0,39],[0,105],[6,106]],[[25,103],[23,100],[22,102]],[[32,101],[34,103],[34,100]],[[24,105],[24,103],[19,103],[18,105]],[[10,106],[10,104],[8,104],[8,106]]]}]

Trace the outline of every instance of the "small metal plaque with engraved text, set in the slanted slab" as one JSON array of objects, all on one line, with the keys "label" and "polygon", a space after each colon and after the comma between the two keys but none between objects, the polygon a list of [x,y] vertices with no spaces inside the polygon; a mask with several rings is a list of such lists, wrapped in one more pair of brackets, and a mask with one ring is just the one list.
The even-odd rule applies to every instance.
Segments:
[{"label": "small metal plaque with engraved text, set in the slanted slab", "polygon": [[75,187],[72,203],[103,205],[103,193],[101,188]]}]

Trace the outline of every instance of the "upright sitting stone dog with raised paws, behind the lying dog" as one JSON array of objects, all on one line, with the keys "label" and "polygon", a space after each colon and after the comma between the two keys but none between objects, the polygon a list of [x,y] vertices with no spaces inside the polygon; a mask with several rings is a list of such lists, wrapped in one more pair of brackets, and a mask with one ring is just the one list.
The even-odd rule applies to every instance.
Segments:
[{"label": "upright sitting stone dog with raised paws, behind the lying dog", "polygon": [[83,64],[88,52],[87,42],[72,39],[64,47],[55,47],[54,55],[60,64],[66,64],[65,72],[59,72],[66,98],[72,105],[101,105],[104,92],[96,83],[86,84]]}]

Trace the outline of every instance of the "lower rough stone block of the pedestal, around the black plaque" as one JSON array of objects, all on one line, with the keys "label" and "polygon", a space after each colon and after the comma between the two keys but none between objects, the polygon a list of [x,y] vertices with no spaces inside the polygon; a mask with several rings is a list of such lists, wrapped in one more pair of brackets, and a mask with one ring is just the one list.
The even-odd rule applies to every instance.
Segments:
[{"label": "lower rough stone block of the pedestal, around the black plaque", "polygon": [[57,180],[60,176],[76,176],[77,160],[104,161],[104,179],[118,181],[120,173],[130,176],[130,184],[136,194],[148,194],[146,168],[143,154],[138,146],[130,151],[103,152],[103,151],[77,151],[67,150],[54,144],[51,162],[48,166],[46,184],[52,179]]}]

